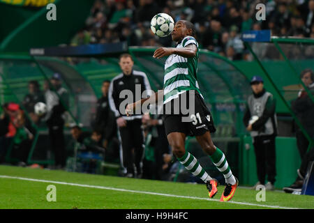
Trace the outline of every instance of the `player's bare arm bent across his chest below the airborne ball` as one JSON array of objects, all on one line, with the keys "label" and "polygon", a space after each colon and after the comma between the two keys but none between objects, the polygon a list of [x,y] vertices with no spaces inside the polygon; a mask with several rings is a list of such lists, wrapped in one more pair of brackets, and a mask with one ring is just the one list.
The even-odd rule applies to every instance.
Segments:
[{"label": "player's bare arm bent across his chest below the airborne ball", "polygon": [[171,54],[177,54],[186,58],[195,56],[197,47],[194,44],[187,45],[184,48],[173,48],[173,47],[160,47],[155,50],[153,57],[160,59],[163,56],[170,56]]}]

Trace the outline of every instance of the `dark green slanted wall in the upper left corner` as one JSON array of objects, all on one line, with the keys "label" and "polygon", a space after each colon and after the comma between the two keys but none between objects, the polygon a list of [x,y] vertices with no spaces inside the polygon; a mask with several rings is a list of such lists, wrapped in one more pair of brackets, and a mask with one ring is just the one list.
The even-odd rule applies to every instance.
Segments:
[{"label": "dark green slanted wall in the upper left corner", "polygon": [[[47,20],[46,15],[49,10],[45,7],[38,10],[35,15],[29,14],[28,20],[25,20],[0,42],[0,52],[28,52],[31,47],[50,47],[69,43],[75,33],[84,26],[94,0],[61,0],[56,1],[55,4],[57,6],[56,21]],[[3,6],[1,4],[1,8]],[[15,6],[15,8],[21,10],[19,7]],[[6,12],[5,15],[7,15]],[[22,17],[19,20],[21,21]]]}]

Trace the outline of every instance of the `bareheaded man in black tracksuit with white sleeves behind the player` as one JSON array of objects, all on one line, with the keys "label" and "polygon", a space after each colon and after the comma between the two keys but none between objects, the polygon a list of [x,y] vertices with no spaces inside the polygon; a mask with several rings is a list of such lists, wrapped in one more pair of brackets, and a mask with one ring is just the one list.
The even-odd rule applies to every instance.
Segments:
[{"label": "bareheaded man in black tracksuit with white sleeves behind the player", "polygon": [[125,109],[126,105],[141,99],[142,96],[146,98],[149,94],[142,93],[151,90],[151,87],[145,73],[133,70],[133,64],[130,54],[120,56],[122,73],[112,79],[108,96],[118,125],[123,174],[127,177],[140,177],[144,157],[142,113],[127,117]]}]

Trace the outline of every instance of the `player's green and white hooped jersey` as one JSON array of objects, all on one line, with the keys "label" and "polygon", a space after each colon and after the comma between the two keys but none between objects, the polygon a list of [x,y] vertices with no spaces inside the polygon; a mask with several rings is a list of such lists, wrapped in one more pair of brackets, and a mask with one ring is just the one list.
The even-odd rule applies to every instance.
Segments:
[{"label": "player's green and white hooped jersey", "polygon": [[[165,61],[165,77],[163,79],[163,103],[178,98],[185,91],[194,90],[200,93],[197,83],[197,63],[199,57],[198,43],[192,36],[186,36],[177,48],[195,44],[197,52],[192,58],[172,54]],[[200,95],[202,95],[200,93]]]}]

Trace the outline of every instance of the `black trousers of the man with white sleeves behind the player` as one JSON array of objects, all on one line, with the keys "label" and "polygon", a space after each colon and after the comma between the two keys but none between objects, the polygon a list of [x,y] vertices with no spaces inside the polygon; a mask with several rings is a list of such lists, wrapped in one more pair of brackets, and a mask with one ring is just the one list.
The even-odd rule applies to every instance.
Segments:
[{"label": "black trousers of the man with white sleeves behind the player", "polygon": [[135,174],[135,171],[136,174],[142,174],[144,132],[141,125],[141,119],[134,119],[126,121],[126,127],[119,128],[121,164],[130,174]]}]

